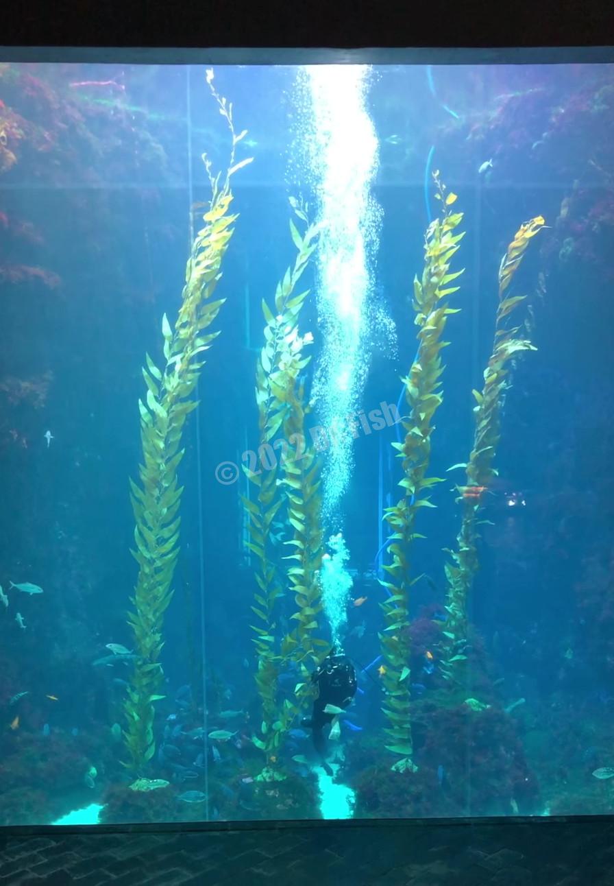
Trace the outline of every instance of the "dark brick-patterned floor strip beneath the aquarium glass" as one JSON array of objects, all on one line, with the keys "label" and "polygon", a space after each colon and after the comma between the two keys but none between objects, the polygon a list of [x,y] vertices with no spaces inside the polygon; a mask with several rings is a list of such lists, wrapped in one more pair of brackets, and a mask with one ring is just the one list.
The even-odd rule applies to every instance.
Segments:
[{"label": "dark brick-patterned floor strip beneath the aquarium glass", "polygon": [[614,886],[614,820],[0,832],[0,884]]}]

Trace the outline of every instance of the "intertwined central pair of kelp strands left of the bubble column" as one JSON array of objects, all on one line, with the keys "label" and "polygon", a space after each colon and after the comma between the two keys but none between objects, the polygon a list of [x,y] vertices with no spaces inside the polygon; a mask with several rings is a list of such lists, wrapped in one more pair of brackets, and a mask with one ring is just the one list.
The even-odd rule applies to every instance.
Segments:
[{"label": "intertwined central pair of kelp strands left of the bubble column", "polygon": [[[256,686],[262,702],[261,737],[254,737],[254,744],[267,753],[267,769],[271,755],[275,755],[284,732],[296,716],[295,706],[288,699],[280,705],[277,701],[277,676],[280,664],[289,657],[312,655],[314,651],[312,632],[317,626],[315,616],[321,609],[318,601],[317,570],[321,562],[322,532],[320,530],[320,502],[317,496],[316,476],[318,466],[315,455],[305,445],[304,385],[299,377],[311,357],[303,355],[303,347],[311,344],[313,336],[307,332],[299,335],[300,309],[308,290],[295,295],[297,284],[310,256],[317,246],[318,226],[309,224],[307,207],[294,198],[291,206],[299,221],[307,226],[301,235],[294,221],[290,222],[291,237],[298,250],[293,268],[288,268],[284,279],[277,284],[275,311],[262,300],[266,321],[265,345],[256,366],[256,403],[259,414],[260,447],[270,446],[278,431],[283,432],[284,450],[281,465],[276,460],[270,470],[260,473],[244,466],[247,478],[258,487],[255,500],[243,496],[243,503],[250,519],[251,541],[248,547],[258,557],[259,568],[256,581],[259,591],[254,596],[252,610],[258,619],[253,626],[254,643],[258,656]],[[294,455],[291,446],[295,447]],[[284,544],[296,549],[285,560],[298,560],[280,575],[273,561],[271,550],[271,525],[277,512],[287,511],[287,522],[294,534]],[[276,600],[283,595],[283,582],[289,581],[295,594],[299,611],[292,616],[299,621],[297,628],[282,638],[276,649]]]}]

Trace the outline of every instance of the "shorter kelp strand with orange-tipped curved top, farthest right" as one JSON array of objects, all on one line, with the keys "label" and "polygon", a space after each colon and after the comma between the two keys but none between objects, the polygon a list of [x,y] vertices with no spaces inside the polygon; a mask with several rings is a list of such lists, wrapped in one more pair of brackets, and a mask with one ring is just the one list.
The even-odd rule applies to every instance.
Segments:
[{"label": "shorter kelp strand with orange-tipped curved top, farthest right", "polygon": [[521,225],[499,268],[499,304],[494,330],[493,353],[484,372],[482,392],[474,391],[477,405],[475,434],[469,462],[455,465],[466,469],[465,486],[457,486],[457,501],[462,506],[461,529],[456,536],[456,547],[447,550],[447,624],[443,632],[444,658],[441,672],[446,679],[462,680],[462,663],[466,661],[467,598],[478,571],[478,513],[484,495],[496,476],[494,457],[501,436],[501,408],[509,387],[509,362],[524,351],[535,351],[522,325],[511,325],[510,315],[525,300],[525,296],[508,296],[512,277],[525,254],[529,241],[545,226],[539,215]]}]

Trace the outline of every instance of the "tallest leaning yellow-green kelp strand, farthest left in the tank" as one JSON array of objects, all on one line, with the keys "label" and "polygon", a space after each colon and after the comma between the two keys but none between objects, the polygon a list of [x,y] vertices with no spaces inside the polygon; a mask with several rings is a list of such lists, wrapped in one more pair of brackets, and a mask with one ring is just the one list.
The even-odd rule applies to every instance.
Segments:
[{"label": "tallest leaning yellow-green kelp strand, farthest left in the tank", "polygon": [[136,774],[144,771],[154,754],[153,703],[164,697],[159,695],[159,656],[164,613],[173,595],[171,584],[179,553],[178,512],[183,486],[179,486],[177,468],[183,457],[183,424],[197,406],[191,395],[205,362],[203,354],[218,334],[206,330],[223,304],[223,299],[213,300],[212,296],[222,276],[222,260],[237,220],[236,214],[229,213],[230,175],[239,166],[234,163],[235,145],[244,134],[235,135],[231,106],[227,107],[211,89],[232,137],[229,170],[221,187],[220,176],[213,178],[206,161],[212,197],[203,216],[205,224],[194,237],[175,328],[166,314],[162,318],[164,362],[157,365],[149,354],[145,355],[147,392],[138,402],[143,463],[139,466],[140,483],[130,480],[136,520],[135,550],[131,553],[138,563],[138,576],[130,598],[133,609],[128,615],[138,657],[124,705],[128,721],[124,730],[128,749],[125,766]]}]

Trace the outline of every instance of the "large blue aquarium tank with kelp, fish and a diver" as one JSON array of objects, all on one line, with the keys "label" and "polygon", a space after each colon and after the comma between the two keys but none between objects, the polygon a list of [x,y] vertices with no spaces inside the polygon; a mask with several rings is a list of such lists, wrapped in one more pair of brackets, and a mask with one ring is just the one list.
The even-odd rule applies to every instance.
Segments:
[{"label": "large blue aquarium tank with kelp, fish and a diver", "polygon": [[0,824],[611,813],[614,66],[4,58]]}]

